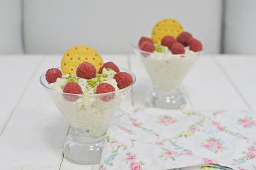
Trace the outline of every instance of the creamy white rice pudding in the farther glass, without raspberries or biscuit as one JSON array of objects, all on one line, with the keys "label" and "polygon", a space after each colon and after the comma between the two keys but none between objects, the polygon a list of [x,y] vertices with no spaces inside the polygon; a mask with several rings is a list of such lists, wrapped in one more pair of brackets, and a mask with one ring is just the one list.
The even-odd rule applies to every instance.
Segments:
[{"label": "creamy white rice pudding in the farther glass, without raspberries or biscuit", "polygon": [[141,58],[152,79],[153,86],[161,91],[171,91],[178,87],[199,55],[190,51],[188,47],[185,48],[185,55],[173,55],[168,47],[162,46],[161,48],[163,48],[162,52],[154,51],[147,57]]}]

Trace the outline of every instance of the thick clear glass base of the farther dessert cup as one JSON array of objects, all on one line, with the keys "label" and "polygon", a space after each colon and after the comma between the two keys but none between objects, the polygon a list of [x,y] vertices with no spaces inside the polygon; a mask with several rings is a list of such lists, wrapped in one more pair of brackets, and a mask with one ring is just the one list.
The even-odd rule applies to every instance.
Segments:
[{"label": "thick clear glass base of the farther dessert cup", "polygon": [[186,105],[186,99],[179,88],[171,92],[163,92],[153,89],[147,94],[146,104],[149,107],[158,107],[163,109],[182,109]]}]

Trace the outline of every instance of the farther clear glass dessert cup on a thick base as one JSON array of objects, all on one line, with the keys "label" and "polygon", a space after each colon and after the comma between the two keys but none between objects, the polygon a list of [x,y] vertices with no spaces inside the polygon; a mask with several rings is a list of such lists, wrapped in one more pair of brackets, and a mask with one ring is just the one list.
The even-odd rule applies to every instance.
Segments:
[{"label": "farther clear glass dessert cup on a thick base", "polygon": [[147,94],[146,104],[163,109],[181,109],[186,105],[181,83],[186,74],[201,56],[200,52],[186,54],[150,53],[141,51],[138,42],[132,44],[137,57],[141,58],[153,88]]}]

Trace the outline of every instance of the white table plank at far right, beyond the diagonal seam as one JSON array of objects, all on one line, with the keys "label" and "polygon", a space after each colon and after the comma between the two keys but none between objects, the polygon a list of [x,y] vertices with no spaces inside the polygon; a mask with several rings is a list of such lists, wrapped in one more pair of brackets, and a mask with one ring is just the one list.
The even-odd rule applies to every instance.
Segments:
[{"label": "white table plank at far right, beyond the diagonal seam", "polygon": [[250,109],[256,109],[256,56],[216,56],[236,92]]}]

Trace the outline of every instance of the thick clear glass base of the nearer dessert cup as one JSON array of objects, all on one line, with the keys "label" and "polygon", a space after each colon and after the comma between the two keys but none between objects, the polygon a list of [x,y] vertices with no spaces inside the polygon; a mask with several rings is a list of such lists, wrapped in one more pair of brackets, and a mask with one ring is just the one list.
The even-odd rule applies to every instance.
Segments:
[{"label": "thick clear glass base of the nearer dessert cup", "polygon": [[64,157],[76,164],[99,164],[104,136],[89,138],[89,132],[70,128],[63,143]]}]

